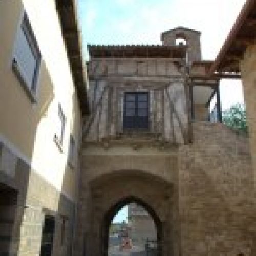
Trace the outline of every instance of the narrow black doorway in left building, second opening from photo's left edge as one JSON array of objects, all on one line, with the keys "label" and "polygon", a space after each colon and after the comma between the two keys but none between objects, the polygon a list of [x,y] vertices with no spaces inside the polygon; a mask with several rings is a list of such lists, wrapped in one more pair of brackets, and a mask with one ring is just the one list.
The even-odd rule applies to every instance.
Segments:
[{"label": "narrow black doorway in left building, second opening from photo's left edge", "polygon": [[40,256],[51,256],[53,247],[55,219],[53,216],[46,215],[44,229],[42,230],[42,243]]}]

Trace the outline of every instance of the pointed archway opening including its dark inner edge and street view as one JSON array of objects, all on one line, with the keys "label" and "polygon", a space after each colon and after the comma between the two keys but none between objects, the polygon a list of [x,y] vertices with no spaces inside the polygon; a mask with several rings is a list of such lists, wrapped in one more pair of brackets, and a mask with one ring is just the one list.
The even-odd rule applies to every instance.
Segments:
[{"label": "pointed archway opening including its dark inner edge and street view", "polygon": [[125,198],[111,207],[105,227],[105,255],[161,255],[161,222],[152,207],[138,198]]}]

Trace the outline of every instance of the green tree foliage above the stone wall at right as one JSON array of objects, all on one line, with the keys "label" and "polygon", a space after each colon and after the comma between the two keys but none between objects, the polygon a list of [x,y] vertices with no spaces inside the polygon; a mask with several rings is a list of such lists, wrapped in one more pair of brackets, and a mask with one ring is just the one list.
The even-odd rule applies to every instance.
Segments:
[{"label": "green tree foliage above the stone wall at right", "polygon": [[237,103],[230,109],[223,111],[222,120],[226,126],[245,134],[248,133],[244,105]]}]

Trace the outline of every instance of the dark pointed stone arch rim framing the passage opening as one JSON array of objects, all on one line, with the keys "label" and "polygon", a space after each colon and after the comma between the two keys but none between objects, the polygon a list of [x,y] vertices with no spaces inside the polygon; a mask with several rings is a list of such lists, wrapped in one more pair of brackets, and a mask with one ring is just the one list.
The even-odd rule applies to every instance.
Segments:
[{"label": "dark pointed stone arch rim framing the passage opening", "polygon": [[141,200],[138,197],[130,196],[121,199],[119,202],[117,202],[115,205],[113,205],[108,212],[106,212],[103,223],[102,223],[102,241],[103,241],[103,252],[104,256],[108,255],[108,238],[109,238],[109,227],[111,224],[111,221],[113,220],[116,212],[118,212],[122,207],[124,207],[127,204],[130,203],[137,203],[150,214],[152,217],[157,231],[157,256],[161,256],[161,244],[162,244],[162,222],[159,219],[156,211],[147,203],[145,203],[143,200]]}]

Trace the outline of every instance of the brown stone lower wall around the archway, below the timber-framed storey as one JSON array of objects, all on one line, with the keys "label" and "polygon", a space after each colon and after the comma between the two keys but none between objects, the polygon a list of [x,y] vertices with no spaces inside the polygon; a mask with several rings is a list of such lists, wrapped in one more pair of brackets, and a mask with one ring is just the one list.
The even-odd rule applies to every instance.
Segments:
[{"label": "brown stone lower wall around the archway, below the timber-framed storey", "polygon": [[193,129],[193,144],[179,147],[84,147],[75,256],[105,255],[105,216],[130,196],[158,216],[163,256],[255,255],[248,141],[220,123]]}]

